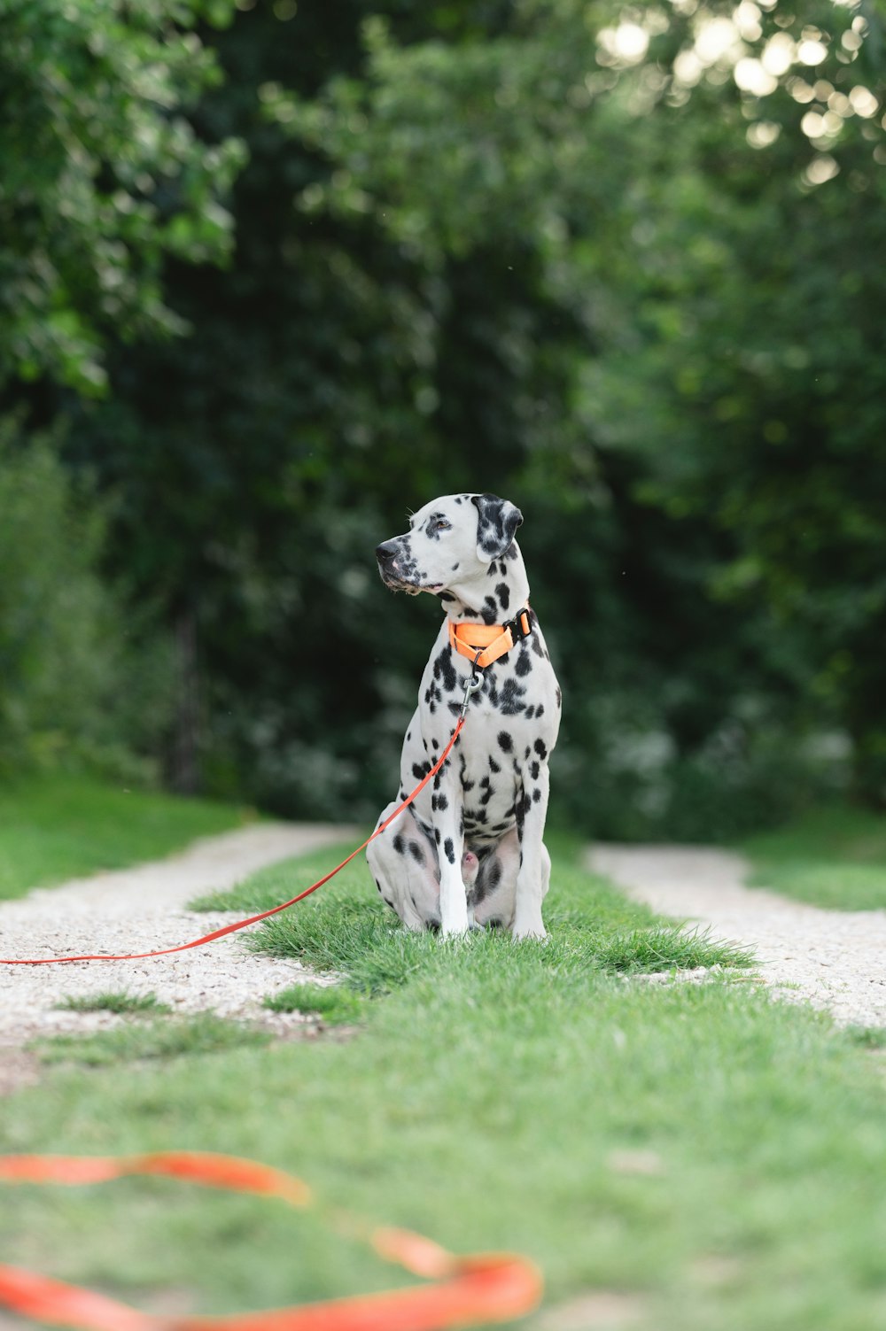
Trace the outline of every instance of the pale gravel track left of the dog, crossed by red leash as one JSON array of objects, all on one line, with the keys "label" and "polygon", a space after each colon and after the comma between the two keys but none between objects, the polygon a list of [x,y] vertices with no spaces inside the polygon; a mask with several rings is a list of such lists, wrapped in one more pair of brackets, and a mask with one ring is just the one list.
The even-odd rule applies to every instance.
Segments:
[{"label": "pale gravel track left of the dog, crossed by red leash", "polygon": [[[195,897],[232,888],[262,865],[349,835],[348,828],[322,824],[256,824],[196,841],[168,860],[36,889],[19,901],[0,904],[0,957],[148,952],[188,942],[241,917],[185,910]],[[293,882],[292,896],[296,886]],[[107,1012],[59,1009],[72,997],[152,993],[176,1012],[261,1016],[270,1024],[261,1000],[314,977],[294,961],[250,953],[244,938],[245,932],[236,933],[205,948],[145,961],[0,966],[0,1067],[21,1062],[13,1050],[35,1036],[87,1033],[121,1020]],[[298,1020],[297,1014],[278,1014],[281,1026]]]}]

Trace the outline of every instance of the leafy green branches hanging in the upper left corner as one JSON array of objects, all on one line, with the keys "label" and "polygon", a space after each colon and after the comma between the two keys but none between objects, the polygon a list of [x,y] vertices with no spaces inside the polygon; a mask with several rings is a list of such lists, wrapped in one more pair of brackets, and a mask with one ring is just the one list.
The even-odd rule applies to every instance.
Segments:
[{"label": "leafy green branches hanging in the upper left corner", "polygon": [[[212,11],[212,13],[211,13]],[[181,329],[163,262],[230,252],[221,200],[242,150],[185,108],[217,77],[195,25],[228,0],[0,4],[0,386],[104,390],[101,343]]]}]

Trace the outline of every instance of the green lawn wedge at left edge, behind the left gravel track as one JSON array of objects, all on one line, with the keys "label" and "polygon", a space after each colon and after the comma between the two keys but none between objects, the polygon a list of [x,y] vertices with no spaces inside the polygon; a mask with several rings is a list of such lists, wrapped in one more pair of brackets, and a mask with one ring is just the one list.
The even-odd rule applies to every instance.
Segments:
[{"label": "green lawn wedge at left edge, behind the left gravel track", "polygon": [[195,837],[252,821],[254,813],[208,800],[75,776],[0,788],[0,900],[100,869],[156,860]]}]

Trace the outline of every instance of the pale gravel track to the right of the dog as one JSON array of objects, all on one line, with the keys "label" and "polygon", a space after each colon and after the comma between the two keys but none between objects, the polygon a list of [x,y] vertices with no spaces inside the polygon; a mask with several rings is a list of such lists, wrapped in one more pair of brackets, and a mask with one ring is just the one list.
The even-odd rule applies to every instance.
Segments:
[{"label": "pale gravel track to the right of the dog", "polygon": [[749,865],[727,851],[597,845],[588,860],[654,910],[750,945],[779,997],[825,1008],[841,1025],[886,1026],[886,910],[822,910],[746,888]]}]

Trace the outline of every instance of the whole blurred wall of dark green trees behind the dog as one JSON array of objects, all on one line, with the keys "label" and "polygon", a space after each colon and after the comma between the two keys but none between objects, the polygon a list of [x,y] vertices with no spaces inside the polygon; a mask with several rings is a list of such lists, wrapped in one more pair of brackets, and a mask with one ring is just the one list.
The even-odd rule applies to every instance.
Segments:
[{"label": "whole blurred wall of dark green trees behind the dog", "polygon": [[0,780],[372,817],[492,490],[554,819],[882,808],[885,17],[3,0]]}]

